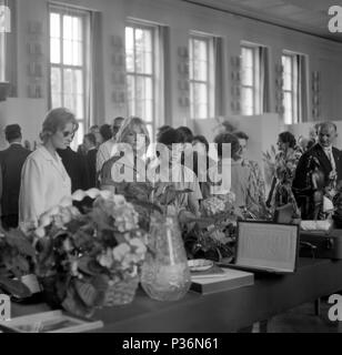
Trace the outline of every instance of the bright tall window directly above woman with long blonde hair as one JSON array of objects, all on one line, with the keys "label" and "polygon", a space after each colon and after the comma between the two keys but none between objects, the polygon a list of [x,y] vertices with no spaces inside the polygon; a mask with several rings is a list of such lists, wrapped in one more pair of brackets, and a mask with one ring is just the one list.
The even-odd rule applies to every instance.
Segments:
[{"label": "bright tall window directly above woman with long blonde hair", "polygon": [[125,27],[128,112],[147,122],[150,136],[157,124],[157,26],[129,23]]}]

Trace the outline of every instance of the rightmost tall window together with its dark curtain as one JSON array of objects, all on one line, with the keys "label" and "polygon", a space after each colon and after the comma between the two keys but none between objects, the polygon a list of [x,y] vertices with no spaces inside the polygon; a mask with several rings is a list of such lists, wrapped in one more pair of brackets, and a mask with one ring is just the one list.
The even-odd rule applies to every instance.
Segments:
[{"label": "rightmost tall window together with its dark curtain", "polygon": [[284,51],[282,67],[284,123],[299,123],[306,116],[306,58]]}]

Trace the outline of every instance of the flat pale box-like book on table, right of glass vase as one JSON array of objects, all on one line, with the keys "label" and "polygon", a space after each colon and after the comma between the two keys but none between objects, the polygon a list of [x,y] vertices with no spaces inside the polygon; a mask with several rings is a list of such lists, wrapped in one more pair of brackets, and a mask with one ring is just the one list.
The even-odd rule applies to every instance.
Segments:
[{"label": "flat pale box-like book on table, right of glass vase", "polygon": [[254,274],[214,265],[203,272],[192,272],[191,281],[191,290],[205,295],[253,285]]}]

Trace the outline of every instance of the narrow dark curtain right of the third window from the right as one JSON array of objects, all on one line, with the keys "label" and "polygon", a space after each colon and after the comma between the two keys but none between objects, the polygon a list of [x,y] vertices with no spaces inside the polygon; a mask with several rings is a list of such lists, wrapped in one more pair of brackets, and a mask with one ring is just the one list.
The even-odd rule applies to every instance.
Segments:
[{"label": "narrow dark curtain right of the third window from the right", "polygon": [[213,62],[214,62],[214,115],[224,115],[224,51],[223,39],[220,37],[213,38]]}]

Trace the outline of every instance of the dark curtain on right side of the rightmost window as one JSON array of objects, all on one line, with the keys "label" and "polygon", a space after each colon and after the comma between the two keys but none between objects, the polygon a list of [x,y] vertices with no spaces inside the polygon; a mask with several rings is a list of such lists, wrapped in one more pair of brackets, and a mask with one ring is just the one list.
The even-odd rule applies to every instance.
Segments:
[{"label": "dark curtain on right side of the rightmost window", "polygon": [[309,82],[308,60],[305,55],[296,55],[298,62],[298,120],[308,122]]}]

